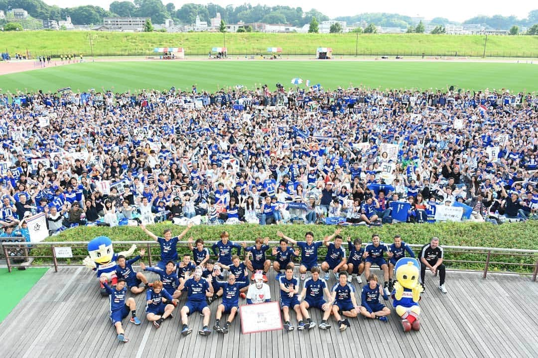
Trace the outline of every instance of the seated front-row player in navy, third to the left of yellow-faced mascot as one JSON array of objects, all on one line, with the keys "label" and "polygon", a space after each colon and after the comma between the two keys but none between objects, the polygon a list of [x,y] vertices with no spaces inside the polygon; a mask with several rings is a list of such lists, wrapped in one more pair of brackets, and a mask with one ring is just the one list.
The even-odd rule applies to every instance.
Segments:
[{"label": "seated front-row player in navy, third to the left of yellow-faced mascot", "polygon": [[313,267],[310,270],[310,273],[312,273],[312,277],[305,280],[301,295],[298,298],[299,302],[304,298],[300,307],[303,318],[306,318],[305,328],[307,330],[316,326],[316,323],[310,318],[308,309],[313,307],[322,311],[327,311],[330,307],[327,301],[323,299],[323,293],[327,295],[327,297],[331,296],[329,288],[327,287],[327,282],[320,278],[320,268]]}]

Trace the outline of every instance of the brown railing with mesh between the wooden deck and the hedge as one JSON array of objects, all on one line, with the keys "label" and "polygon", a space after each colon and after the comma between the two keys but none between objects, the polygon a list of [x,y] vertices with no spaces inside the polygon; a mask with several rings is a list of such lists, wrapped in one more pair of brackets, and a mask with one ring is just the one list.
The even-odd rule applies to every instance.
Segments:
[{"label": "brown railing with mesh between the wooden deck and the hedge", "polygon": [[[207,241],[206,247],[212,245],[215,241]],[[159,261],[159,244],[156,241],[114,241],[112,244],[115,247],[115,252],[121,249],[128,249],[131,245],[137,245],[138,249],[145,248],[149,266]],[[253,241],[247,241],[247,244],[252,245]],[[270,241],[273,246],[278,246],[278,241]],[[19,242],[0,242],[1,252],[4,254],[8,270],[11,272],[13,268],[27,267],[27,261],[33,260],[34,263],[40,262],[36,266],[51,266],[55,271],[61,266],[83,266],[82,260],[87,256],[86,241],[75,242],[37,242],[31,243],[32,248],[27,250],[29,244],[21,244]],[[345,244],[343,244],[345,247]],[[422,245],[407,244],[417,252]],[[60,257],[57,248],[70,248],[72,256]],[[21,251],[22,250],[22,251]],[[538,250],[526,249],[509,249],[498,247],[468,247],[468,246],[443,246],[444,260],[447,269],[452,271],[474,271],[482,272],[486,278],[488,272],[504,273],[504,274],[521,274],[532,275],[532,280],[536,281],[538,275]],[[20,262],[21,257],[13,257],[10,252],[23,252],[26,255],[25,261]],[[187,242],[178,242],[178,253],[188,252]],[[61,255],[65,256],[65,255]],[[321,255],[320,255],[321,256]],[[470,256],[470,257],[469,257]],[[272,257],[268,255],[268,257]],[[512,260],[508,260],[511,258]],[[519,262],[514,262],[518,261]],[[465,269],[465,266],[472,265],[480,266],[480,269]],[[513,270],[509,268],[514,268]]]}]

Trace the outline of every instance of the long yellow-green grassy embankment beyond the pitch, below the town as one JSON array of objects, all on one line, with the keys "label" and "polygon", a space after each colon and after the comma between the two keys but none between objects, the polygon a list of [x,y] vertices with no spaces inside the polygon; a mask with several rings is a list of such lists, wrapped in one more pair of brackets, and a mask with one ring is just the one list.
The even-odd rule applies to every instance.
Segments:
[{"label": "long yellow-green grassy embankment beyond the pitch, below the town", "polygon": [[[0,33],[2,50],[34,55],[90,54],[89,32],[25,31]],[[282,55],[314,56],[317,47],[340,55],[482,56],[482,35],[428,34],[302,34],[302,33],[122,33],[91,32],[96,56],[151,55],[154,47],[185,47],[188,55],[207,55],[211,47],[229,55],[266,53],[282,47]],[[538,57],[538,36],[488,36],[486,56]]]}]

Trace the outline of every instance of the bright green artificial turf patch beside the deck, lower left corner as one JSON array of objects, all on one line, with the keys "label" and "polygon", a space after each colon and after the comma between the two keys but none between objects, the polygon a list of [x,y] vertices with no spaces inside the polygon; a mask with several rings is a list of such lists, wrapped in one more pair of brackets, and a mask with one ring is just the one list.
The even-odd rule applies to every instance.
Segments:
[{"label": "bright green artificial turf patch beside the deck, lower left corner", "polygon": [[0,300],[0,323],[47,270],[48,268],[28,268],[24,271],[13,269],[9,273],[8,269],[0,269],[0,287],[3,291]]}]

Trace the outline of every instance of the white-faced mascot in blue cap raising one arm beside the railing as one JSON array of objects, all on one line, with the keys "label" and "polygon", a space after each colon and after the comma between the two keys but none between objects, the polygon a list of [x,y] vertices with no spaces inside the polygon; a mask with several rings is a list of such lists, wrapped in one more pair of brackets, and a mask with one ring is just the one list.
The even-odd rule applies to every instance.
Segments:
[{"label": "white-faced mascot in blue cap raising one arm beside the railing", "polygon": [[[112,247],[112,241],[106,236],[98,236],[95,239],[88,242],[88,254],[82,261],[84,265],[97,273],[97,278],[105,277],[107,282],[115,285],[118,281],[116,277],[116,260],[119,255],[129,257],[136,250],[136,245],[131,246],[128,251],[122,251],[119,253],[114,253],[114,248]],[[104,286],[101,284],[101,295],[108,296],[107,291],[105,291]]]}]

